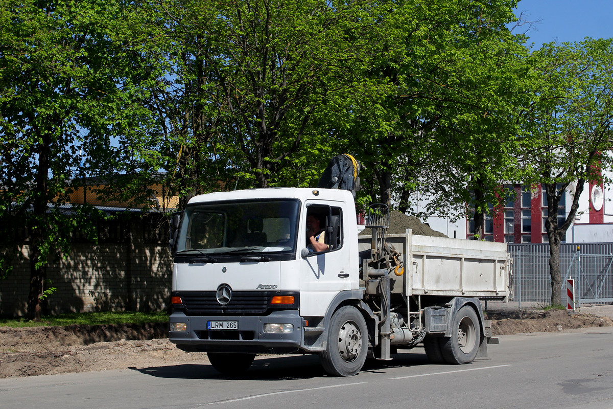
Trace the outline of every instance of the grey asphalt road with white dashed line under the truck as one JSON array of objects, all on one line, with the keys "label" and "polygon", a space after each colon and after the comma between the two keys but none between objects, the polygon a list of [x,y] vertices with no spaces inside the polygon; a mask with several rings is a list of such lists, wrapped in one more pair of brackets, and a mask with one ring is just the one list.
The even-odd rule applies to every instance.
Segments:
[{"label": "grey asphalt road with white dashed line under the truck", "polygon": [[0,380],[2,408],[613,408],[613,328],[500,337],[489,357],[431,365],[422,348],[327,376],[314,356],[257,359],[245,377],[170,365]]}]

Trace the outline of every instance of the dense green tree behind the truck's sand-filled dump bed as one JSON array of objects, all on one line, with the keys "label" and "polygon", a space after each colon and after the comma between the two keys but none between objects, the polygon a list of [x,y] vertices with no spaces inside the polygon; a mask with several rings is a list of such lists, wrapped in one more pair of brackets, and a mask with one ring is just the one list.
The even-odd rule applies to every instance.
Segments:
[{"label": "dense green tree behind the truck's sand-filled dump bed", "polygon": [[389,91],[364,107],[354,132],[369,196],[394,197],[406,212],[421,190],[432,199],[425,212],[440,215],[473,191],[482,218],[516,145],[514,106],[526,74],[524,36],[506,27],[516,2],[390,4],[388,52],[369,72]]}]

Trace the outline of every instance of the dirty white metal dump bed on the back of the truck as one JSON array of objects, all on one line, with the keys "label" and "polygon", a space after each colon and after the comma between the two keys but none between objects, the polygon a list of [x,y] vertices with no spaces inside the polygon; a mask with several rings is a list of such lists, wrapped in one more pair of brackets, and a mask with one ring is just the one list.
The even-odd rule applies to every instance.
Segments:
[{"label": "dirty white metal dump bed on the back of the truck", "polygon": [[[509,297],[511,257],[506,243],[393,234],[386,242],[402,254],[403,274],[392,274],[393,292],[407,296]],[[359,248],[370,248],[371,237],[360,236]]]}]

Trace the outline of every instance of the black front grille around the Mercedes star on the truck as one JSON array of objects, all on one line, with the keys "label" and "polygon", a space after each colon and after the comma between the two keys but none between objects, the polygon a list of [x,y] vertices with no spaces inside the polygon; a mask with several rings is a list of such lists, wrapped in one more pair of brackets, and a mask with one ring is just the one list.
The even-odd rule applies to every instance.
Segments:
[{"label": "black front grille around the Mercedes star on the truck", "polygon": [[180,292],[185,315],[258,315],[265,313],[272,291],[234,291],[226,305],[217,301],[215,291]]}]

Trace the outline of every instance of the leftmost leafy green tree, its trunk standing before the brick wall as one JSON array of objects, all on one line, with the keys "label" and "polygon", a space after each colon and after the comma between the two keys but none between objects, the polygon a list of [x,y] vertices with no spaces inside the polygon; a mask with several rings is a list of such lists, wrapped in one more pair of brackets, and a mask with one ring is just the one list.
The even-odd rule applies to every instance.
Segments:
[{"label": "leftmost leafy green tree, its trunk standing before the brick wall", "polygon": [[[118,78],[128,69],[113,47],[120,2],[3,1],[0,28],[0,236],[4,256],[25,227],[28,318],[40,315],[47,264],[86,232],[88,208],[68,205],[81,175],[79,151],[131,117]],[[89,209],[91,210],[91,209]]]}]

